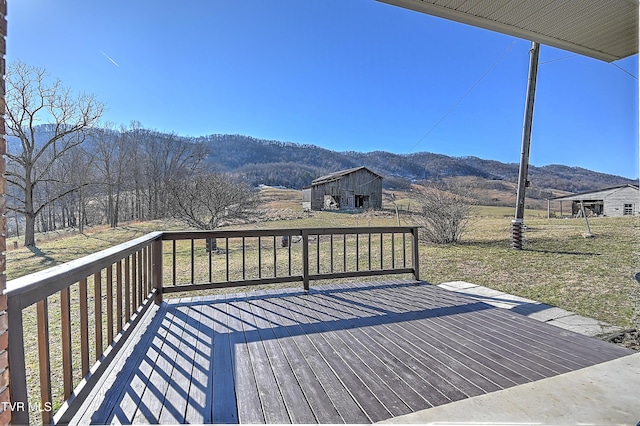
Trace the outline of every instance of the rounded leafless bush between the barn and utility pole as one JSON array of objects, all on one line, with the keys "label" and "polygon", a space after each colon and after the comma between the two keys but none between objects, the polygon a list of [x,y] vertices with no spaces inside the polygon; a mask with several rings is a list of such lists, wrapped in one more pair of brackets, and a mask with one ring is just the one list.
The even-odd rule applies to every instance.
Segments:
[{"label": "rounded leafless bush between the barn and utility pole", "polygon": [[421,225],[421,239],[437,244],[460,241],[475,205],[471,188],[458,183],[430,182],[420,191],[420,213],[416,220]]}]

